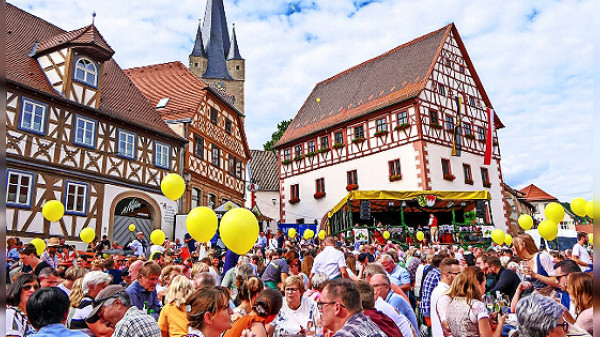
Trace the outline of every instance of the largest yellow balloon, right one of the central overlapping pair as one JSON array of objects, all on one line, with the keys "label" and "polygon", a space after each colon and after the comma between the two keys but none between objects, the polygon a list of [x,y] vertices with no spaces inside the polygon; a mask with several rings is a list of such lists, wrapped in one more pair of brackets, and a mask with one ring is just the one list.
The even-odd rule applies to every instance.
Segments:
[{"label": "largest yellow balloon, right one of the central overlapping pair", "polygon": [[229,250],[244,255],[252,249],[258,238],[258,220],[249,210],[234,208],[221,218],[219,233]]}]

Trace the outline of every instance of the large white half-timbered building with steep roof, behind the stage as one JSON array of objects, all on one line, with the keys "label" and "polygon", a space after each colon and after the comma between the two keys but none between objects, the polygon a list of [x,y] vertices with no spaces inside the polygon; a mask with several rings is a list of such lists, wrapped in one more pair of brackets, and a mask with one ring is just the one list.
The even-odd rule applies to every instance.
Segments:
[{"label": "large white half-timbered building with steep roof, behind the stage", "polygon": [[484,165],[487,108],[454,24],[317,83],[276,144],[281,221],[320,222],[354,189],[488,190],[486,214],[504,227],[495,131]]}]

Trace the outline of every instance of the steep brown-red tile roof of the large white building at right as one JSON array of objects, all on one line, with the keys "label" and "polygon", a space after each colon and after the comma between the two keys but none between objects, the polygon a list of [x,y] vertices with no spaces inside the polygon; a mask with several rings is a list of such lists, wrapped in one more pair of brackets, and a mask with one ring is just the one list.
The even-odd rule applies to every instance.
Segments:
[{"label": "steep brown-red tile roof of the large white building at right", "polygon": [[[450,32],[464,50],[451,23],[317,83],[276,147],[417,97]],[[465,59],[480,85],[470,59],[466,55]],[[482,95],[490,106],[485,92]],[[499,118],[495,123],[502,126]]]}]

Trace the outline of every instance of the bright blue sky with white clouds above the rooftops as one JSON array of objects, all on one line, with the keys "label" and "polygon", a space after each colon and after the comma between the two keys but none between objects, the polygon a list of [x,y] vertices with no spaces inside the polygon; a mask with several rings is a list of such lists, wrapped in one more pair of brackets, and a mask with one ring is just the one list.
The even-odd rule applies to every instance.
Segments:
[{"label": "bright blue sky with white clouds above the rooftops", "polygon": [[[91,22],[123,68],[187,65],[206,0],[17,0],[72,30]],[[262,148],[314,85],[454,22],[504,129],[505,182],[592,197],[593,2],[224,0],[246,59],[246,130]]]}]

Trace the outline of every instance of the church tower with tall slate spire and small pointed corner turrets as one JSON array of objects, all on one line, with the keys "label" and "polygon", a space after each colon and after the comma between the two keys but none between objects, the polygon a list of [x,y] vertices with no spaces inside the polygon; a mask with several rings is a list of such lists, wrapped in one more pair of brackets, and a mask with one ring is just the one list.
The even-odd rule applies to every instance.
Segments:
[{"label": "church tower with tall slate spire and small pointed corner turrets", "polygon": [[229,38],[223,0],[207,0],[189,60],[194,74],[231,95],[233,105],[244,113],[245,60],[238,48],[235,25]]}]

